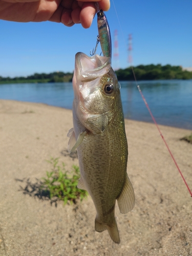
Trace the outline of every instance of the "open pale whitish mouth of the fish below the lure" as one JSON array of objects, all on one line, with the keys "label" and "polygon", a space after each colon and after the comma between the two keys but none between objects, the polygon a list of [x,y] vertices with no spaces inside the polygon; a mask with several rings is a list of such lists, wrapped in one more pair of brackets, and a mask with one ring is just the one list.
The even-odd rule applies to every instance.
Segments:
[{"label": "open pale whitish mouth of the fish below the lure", "polygon": [[111,68],[111,58],[99,55],[92,57],[82,52],[75,55],[75,73],[82,82],[92,81],[106,73],[105,67]]}]

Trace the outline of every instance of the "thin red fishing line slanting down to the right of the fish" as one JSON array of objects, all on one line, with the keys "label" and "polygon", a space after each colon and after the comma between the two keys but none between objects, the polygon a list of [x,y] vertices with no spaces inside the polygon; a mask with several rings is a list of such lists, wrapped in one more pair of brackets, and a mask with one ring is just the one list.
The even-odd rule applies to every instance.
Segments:
[{"label": "thin red fishing line slanting down to the right of the fish", "polygon": [[[112,1],[113,1],[113,5],[114,5],[114,8],[115,8],[114,0],[112,0]],[[125,41],[125,38],[124,38],[124,35],[123,35],[122,27],[121,27],[121,24],[120,24],[120,21],[119,21],[119,17],[118,17],[116,8],[115,8],[115,12],[116,12],[117,19],[118,19],[118,23],[119,23],[119,26],[120,26],[120,29],[121,29],[121,33],[122,33],[122,36],[123,36],[123,39],[124,39],[124,44],[125,44],[125,46],[126,46],[126,41]],[[186,187],[187,187],[187,189],[188,189],[188,191],[189,191],[190,196],[192,197],[191,190],[190,190],[190,188],[189,188],[189,186],[188,186],[188,184],[187,184],[185,178],[183,177],[183,174],[182,174],[182,172],[181,172],[181,170],[180,170],[180,168],[179,168],[179,166],[178,166],[178,164],[177,164],[177,162],[176,162],[176,160],[175,160],[175,158],[174,158],[172,152],[170,151],[170,148],[169,148],[168,144],[166,143],[165,138],[163,137],[163,135],[162,135],[162,133],[161,133],[161,131],[160,131],[160,129],[159,129],[159,126],[158,126],[158,124],[157,124],[157,122],[156,122],[156,120],[155,120],[155,117],[153,116],[153,114],[152,114],[152,112],[151,112],[150,106],[147,104],[147,102],[146,102],[146,100],[145,100],[145,97],[144,97],[144,95],[142,94],[142,91],[141,91],[141,89],[140,89],[140,87],[139,87],[139,85],[138,85],[138,83],[137,83],[137,79],[136,79],[136,75],[135,75],[135,72],[134,72],[132,63],[131,63],[131,68],[132,68],[132,71],[133,71],[133,75],[134,75],[134,79],[135,79],[136,86],[137,86],[137,88],[138,88],[138,90],[139,90],[139,93],[140,93],[140,95],[141,95],[141,97],[142,97],[142,99],[143,99],[143,101],[144,101],[144,103],[145,103],[145,105],[146,105],[146,108],[147,108],[148,112],[150,113],[150,115],[151,115],[151,117],[152,117],[152,119],[153,119],[153,121],[154,121],[154,123],[155,123],[155,125],[156,125],[156,127],[157,127],[157,130],[159,131],[159,133],[160,133],[160,135],[161,135],[161,138],[163,139],[163,141],[164,141],[164,143],[165,143],[165,145],[166,145],[166,147],[167,147],[167,150],[168,150],[170,156],[172,157],[172,159],[173,159],[173,161],[174,161],[174,163],[175,163],[175,165],[176,165],[176,167],[177,167],[177,169],[178,169],[178,171],[179,171],[179,173],[180,173],[180,175],[181,175],[181,177],[182,177],[182,179],[183,179],[183,181],[184,181],[184,183],[185,183],[185,185],[186,185]]]}]

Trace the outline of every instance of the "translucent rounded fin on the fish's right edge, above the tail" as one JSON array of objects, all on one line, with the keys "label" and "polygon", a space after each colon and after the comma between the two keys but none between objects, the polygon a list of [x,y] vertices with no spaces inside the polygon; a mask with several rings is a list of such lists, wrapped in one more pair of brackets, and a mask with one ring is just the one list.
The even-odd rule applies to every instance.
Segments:
[{"label": "translucent rounded fin on the fish's right edge, above the tail", "polygon": [[126,214],[131,211],[135,205],[134,189],[127,175],[121,194],[117,198],[117,203],[121,214]]}]

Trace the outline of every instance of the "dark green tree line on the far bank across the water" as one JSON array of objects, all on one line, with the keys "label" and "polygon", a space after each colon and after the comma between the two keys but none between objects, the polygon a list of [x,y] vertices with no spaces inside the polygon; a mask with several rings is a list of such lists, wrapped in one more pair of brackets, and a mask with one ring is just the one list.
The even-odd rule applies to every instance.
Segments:
[{"label": "dark green tree line on the far bank across the water", "polygon": [[[192,79],[192,67],[182,68],[181,66],[171,66],[161,64],[158,65],[139,65],[133,67],[134,73],[137,80],[162,80],[162,79]],[[132,81],[134,74],[132,67],[126,69],[119,69],[116,71],[117,78],[119,81]],[[0,84],[2,83],[46,83],[46,82],[71,82],[73,73],[64,72],[52,72],[46,73],[35,73],[34,75],[27,77],[2,77],[0,76]]]}]

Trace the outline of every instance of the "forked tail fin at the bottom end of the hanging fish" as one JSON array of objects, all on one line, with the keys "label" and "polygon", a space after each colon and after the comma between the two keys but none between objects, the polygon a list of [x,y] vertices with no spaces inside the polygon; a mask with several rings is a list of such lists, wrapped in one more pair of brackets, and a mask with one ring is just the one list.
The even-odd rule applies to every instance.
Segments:
[{"label": "forked tail fin at the bottom end of the hanging fish", "polygon": [[113,224],[110,225],[110,226],[106,225],[106,224],[103,224],[103,223],[99,223],[98,220],[95,219],[95,230],[97,232],[102,232],[106,229],[108,230],[111,239],[115,243],[119,244],[120,243],[119,230],[118,230],[118,227],[117,227],[117,222],[115,220],[115,217],[114,217]]}]

